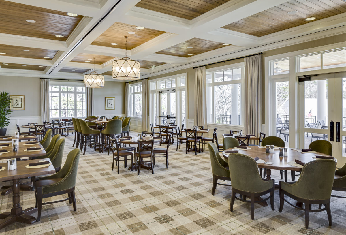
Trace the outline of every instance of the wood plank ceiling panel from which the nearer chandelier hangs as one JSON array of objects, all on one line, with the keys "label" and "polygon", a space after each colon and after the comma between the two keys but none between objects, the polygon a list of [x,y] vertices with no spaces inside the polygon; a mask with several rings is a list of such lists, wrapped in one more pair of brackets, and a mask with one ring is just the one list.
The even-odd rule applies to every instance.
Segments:
[{"label": "wood plank ceiling panel from which the nearer chandelier hangs", "polygon": [[[137,25],[128,25],[124,23],[115,22],[109,27],[103,34],[101,34],[91,44],[97,46],[108,46],[114,48],[125,49],[125,36],[127,38],[127,49],[131,50],[149,40],[160,36],[165,33],[155,29],[136,29]],[[135,32],[135,34],[129,34],[128,32]],[[111,43],[117,43],[118,45],[111,45]],[[125,56],[125,55],[124,55]]]}]

